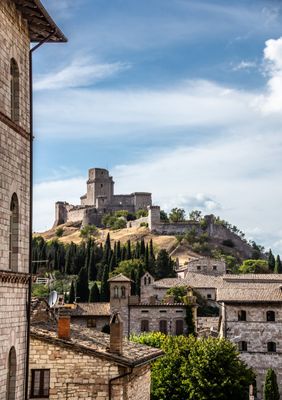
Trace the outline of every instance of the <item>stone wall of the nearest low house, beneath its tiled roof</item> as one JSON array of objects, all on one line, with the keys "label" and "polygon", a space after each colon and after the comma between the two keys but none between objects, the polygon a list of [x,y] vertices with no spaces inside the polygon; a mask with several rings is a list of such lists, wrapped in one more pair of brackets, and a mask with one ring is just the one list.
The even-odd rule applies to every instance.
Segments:
[{"label": "stone wall of the nearest low house, beneath its tiled roof", "polygon": [[[50,369],[50,400],[108,400],[109,380],[126,372],[106,359],[35,338],[30,375],[32,369]],[[112,388],[112,400],[149,400],[150,366],[134,368],[133,375],[115,381]]]}]

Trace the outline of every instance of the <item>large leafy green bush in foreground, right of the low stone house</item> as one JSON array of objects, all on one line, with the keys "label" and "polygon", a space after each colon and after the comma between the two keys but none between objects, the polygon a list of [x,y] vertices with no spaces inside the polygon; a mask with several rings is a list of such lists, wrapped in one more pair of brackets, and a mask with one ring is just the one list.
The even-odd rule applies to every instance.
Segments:
[{"label": "large leafy green bush in foreground, right of the low stone house", "polygon": [[152,366],[152,400],[247,400],[254,373],[225,339],[149,333],[131,340],[164,350]]}]

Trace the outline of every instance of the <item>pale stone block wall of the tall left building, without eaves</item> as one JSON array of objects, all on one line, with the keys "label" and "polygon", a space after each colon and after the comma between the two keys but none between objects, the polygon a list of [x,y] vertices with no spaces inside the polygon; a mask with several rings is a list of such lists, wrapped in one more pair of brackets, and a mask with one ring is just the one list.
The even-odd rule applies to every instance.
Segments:
[{"label": "pale stone block wall of the tall left building, without eaves", "polygon": [[[11,59],[19,68],[19,122],[11,120]],[[19,204],[13,270],[28,273],[29,252],[29,35],[14,3],[0,2],[0,272],[9,270],[10,205]],[[27,285],[0,279],[0,399],[6,399],[8,357],[16,353],[16,400],[24,398]]]}]

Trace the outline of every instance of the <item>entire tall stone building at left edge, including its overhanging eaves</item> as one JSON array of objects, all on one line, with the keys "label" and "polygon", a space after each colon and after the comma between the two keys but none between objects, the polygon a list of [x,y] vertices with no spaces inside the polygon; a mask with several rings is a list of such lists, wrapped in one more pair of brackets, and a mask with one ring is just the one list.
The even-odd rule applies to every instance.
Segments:
[{"label": "entire tall stone building at left edge, including its overhanging eaves", "polygon": [[65,40],[39,0],[1,0],[1,399],[24,399],[27,388],[32,163],[30,43]]}]

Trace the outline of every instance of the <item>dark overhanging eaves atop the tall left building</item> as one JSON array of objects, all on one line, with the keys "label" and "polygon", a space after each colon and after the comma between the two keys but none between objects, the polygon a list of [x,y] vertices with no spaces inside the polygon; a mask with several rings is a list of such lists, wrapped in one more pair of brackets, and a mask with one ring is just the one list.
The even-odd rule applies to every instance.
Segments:
[{"label": "dark overhanging eaves atop the tall left building", "polygon": [[50,17],[40,0],[12,0],[28,23],[31,42],[67,42],[67,38]]}]

